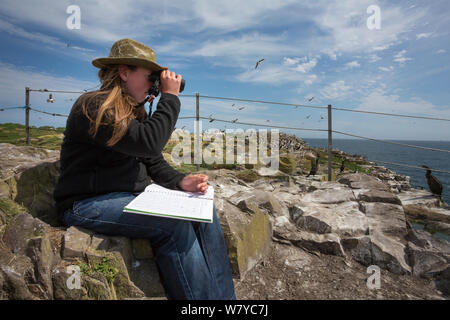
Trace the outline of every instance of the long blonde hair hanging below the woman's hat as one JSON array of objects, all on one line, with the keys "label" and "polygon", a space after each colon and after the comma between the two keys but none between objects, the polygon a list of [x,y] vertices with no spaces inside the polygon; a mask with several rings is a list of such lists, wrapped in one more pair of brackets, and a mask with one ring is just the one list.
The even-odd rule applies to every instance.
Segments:
[{"label": "long blonde hair hanging below the woman's hat", "polygon": [[[136,70],[135,66],[127,67],[131,72]],[[126,92],[118,65],[108,65],[100,69],[98,77],[102,84],[100,90],[83,95],[81,110],[90,121],[89,134],[92,137],[97,135],[100,126],[113,128],[112,136],[106,142],[106,145],[111,147],[125,135],[131,120],[144,120],[146,111],[143,105],[135,107],[138,102]],[[98,107],[96,100],[105,95],[106,99]]]}]

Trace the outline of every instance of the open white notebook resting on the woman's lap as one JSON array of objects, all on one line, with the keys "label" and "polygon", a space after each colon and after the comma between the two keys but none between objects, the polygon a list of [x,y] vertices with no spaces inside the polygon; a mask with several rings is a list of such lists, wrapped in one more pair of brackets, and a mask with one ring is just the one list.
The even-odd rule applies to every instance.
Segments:
[{"label": "open white notebook resting on the woman's lap", "polygon": [[128,203],[124,212],[197,222],[213,222],[214,188],[205,194],[164,188],[150,184]]}]

